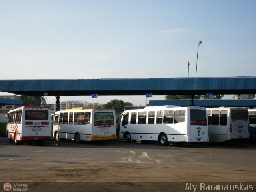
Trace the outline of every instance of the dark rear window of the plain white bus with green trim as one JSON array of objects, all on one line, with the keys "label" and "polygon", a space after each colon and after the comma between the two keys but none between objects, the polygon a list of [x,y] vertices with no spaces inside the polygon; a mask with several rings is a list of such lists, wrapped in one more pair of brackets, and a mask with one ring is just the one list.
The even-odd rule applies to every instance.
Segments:
[{"label": "dark rear window of the plain white bus with green trim", "polygon": [[207,125],[206,111],[201,109],[191,109],[190,124],[191,125]]}]

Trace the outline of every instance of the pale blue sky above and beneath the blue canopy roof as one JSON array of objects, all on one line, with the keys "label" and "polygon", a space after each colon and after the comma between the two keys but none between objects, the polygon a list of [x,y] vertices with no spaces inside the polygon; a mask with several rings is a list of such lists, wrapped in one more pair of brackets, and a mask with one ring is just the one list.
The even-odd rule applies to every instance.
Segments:
[{"label": "pale blue sky above and beneath the blue canopy roof", "polygon": [[[0,0],[0,79],[188,77],[188,61],[194,77],[199,40],[197,77],[255,76],[255,9],[255,0]],[[61,101],[115,98],[146,102]]]}]

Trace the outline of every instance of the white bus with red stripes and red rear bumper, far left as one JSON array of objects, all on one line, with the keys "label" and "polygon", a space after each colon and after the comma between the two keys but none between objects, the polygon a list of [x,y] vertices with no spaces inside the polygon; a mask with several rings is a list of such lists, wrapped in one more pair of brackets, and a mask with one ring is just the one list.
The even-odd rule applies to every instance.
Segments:
[{"label": "white bus with red stripes and red rear bumper, far left", "polygon": [[21,144],[23,141],[36,140],[38,145],[44,144],[44,140],[50,140],[51,112],[49,107],[22,106],[10,110],[6,114],[7,136],[11,143]]}]

